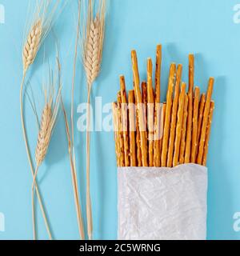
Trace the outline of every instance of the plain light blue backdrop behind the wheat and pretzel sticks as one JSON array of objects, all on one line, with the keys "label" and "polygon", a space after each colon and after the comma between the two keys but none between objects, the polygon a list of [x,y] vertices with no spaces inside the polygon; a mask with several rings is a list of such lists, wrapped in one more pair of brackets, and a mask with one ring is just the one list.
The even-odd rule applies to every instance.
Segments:
[{"label": "plain light blue backdrop behind the wheat and pretzel sticks", "polygon": [[[34,2],[34,1],[33,1]],[[70,107],[77,1],[70,1],[54,32],[60,42],[63,94]],[[183,81],[188,81],[188,54],[196,57],[195,83],[206,90],[210,76],[216,78],[216,108],[209,152],[209,191],[207,237],[238,239],[233,229],[235,212],[240,211],[239,143],[239,70],[240,24],[233,21],[234,0],[110,0],[106,19],[106,44],[102,73],[94,85],[94,96],[102,104],[112,102],[118,92],[118,75],[126,75],[132,88],[130,50],[138,51],[141,78],[146,79],[146,58],[154,58],[155,46],[163,47],[162,100],[170,62],[182,63]],[[0,239],[30,239],[31,175],[26,158],[19,115],[19,88],[22,78],[23,31],[28,0],[0,0],[5,6],[6,23],[0,24],[0,212],[5,214],[6,231]],[[54,60],[53,36],[42,47],[47,58]],[[31,86],[42,107],[42,55],[39,52],[30,71]],[[29,77],[28,77],[29,78]],[[78,60],[76,78],[75,120],[77,106],[86,101],[85,76]],[[103,114],[104,117],[104,114]],[[37,127],[26,101],[27,130],[34,152]],[[76,132],[79,186],[85,214],[85,134]],[[39,185],[46,203],[50,224],[56,239],[77,239],[78,227],[74,209],[66,134],[62,116],[50,143],[50,154],[39,170]],[[91,143],[91,194],[94,214],[94,238],[117,238],[117,170],[114,134],[96,132]],[[86,221],[86,219],[85,219]],[[38,209],[39,238],[47,238]]]}]

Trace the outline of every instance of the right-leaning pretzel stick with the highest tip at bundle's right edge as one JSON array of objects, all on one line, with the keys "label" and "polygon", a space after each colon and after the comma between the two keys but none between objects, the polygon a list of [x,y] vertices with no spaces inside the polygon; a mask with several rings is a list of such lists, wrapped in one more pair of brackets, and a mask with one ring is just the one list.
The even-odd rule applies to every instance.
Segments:
[{"label": "right-leaning pretzel stick with the highest tip at bundle's right edge", "polygon": [[211,98],[213,94],[213,88],[214,88],[214,78],[210,78],[208,89],[206,92],[206,105],[203,112],[203,118],[202,118],[202,130],[200,135],[200,141],[198,146],[198,158],[197,163],[199,165],[202,165],[202,155],[204,150],[204,144],[206,139],[206,126],[208,122],[209,112],[210,112],[210,104],[211,104]]}]

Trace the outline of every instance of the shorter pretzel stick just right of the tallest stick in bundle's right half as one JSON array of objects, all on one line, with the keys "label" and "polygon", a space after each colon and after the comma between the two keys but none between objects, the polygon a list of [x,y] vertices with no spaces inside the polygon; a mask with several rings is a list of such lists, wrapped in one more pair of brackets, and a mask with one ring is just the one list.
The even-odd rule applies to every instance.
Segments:
[{"label": "shorter pretzel stick just right of the tallest stick in bundle's right half", "polygon": [[195,87],[194,92],[194,112],[193,112],[193,131],[192,131],[192,146],[191,146],[191,162],[196,162],[196,152],[198,146],[198,106],[199,106],[200,89]]}]

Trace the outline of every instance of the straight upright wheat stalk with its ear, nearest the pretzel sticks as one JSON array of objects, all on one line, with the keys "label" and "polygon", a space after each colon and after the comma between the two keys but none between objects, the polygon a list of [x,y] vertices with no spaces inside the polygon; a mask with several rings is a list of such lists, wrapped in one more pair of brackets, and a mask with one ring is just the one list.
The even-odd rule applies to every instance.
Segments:
[{"label": "straight upright wheat stalk with its ear, nearest the pretzel sticks", "polygon": [[93,220],[90,200],[90,94],[91,88],[98,77],[102,62],[104,41],[106,0],[98,1],[98,11],[94,17],[94,5],[89,1],[86,28],[82,38],[83,65],[86,71],[88,86],[86,110],[86,217],[88,238],[92,239]]}]

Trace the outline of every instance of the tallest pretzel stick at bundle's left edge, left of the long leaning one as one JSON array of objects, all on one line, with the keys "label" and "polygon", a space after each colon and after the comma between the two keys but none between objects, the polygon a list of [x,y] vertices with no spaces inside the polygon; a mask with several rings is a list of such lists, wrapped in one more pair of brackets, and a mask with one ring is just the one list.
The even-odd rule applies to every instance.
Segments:
[{"label": "tallest pretzel stick at bundle's left edge, left of the long leaning one", "polygon": [[126,86],[124,76],[120,76],[120,91],[122,99],[122,132],[124,142],[124,162],[125,166],[130,166],[129,160],[129,136],[128,136],[128,122],[127,122],[127,99]]}]

